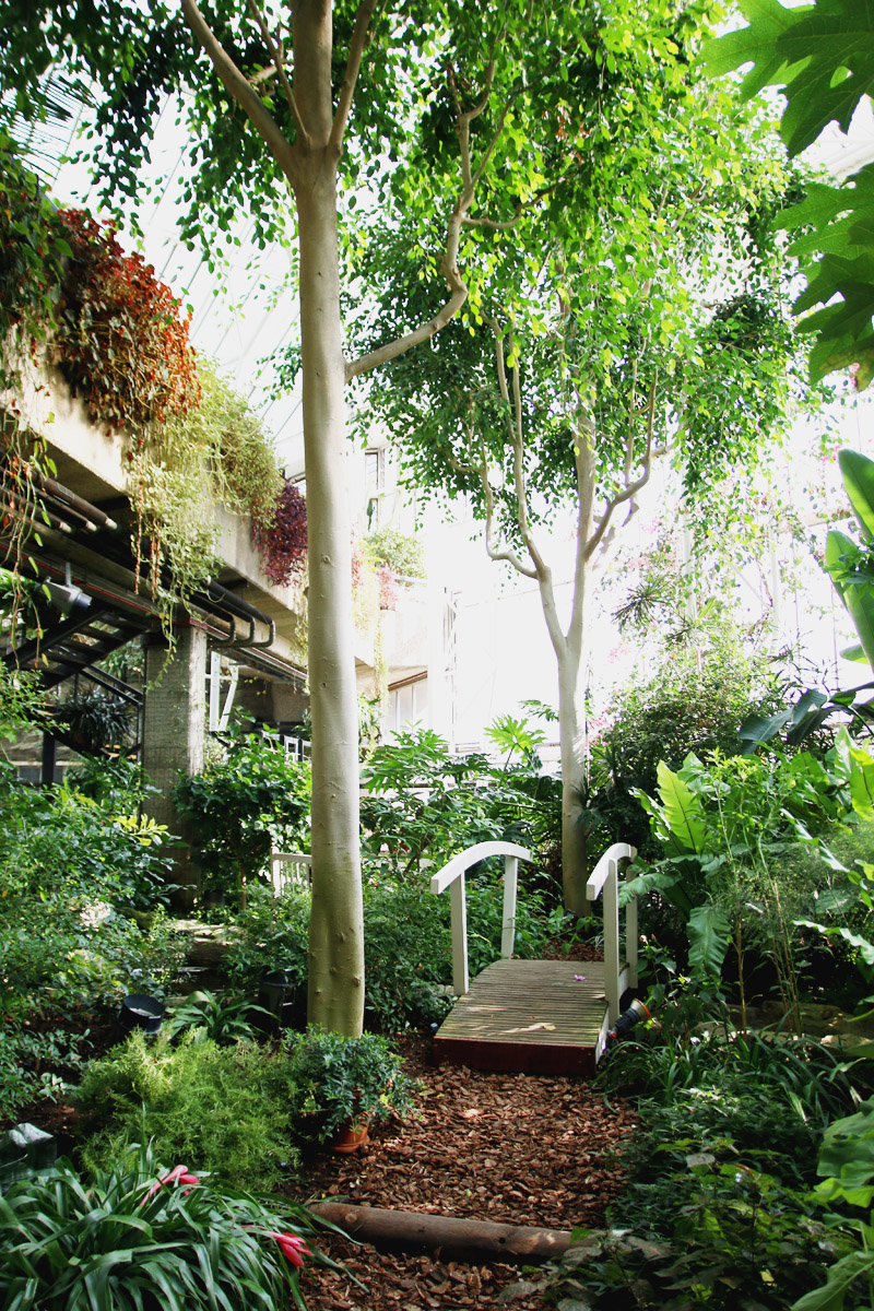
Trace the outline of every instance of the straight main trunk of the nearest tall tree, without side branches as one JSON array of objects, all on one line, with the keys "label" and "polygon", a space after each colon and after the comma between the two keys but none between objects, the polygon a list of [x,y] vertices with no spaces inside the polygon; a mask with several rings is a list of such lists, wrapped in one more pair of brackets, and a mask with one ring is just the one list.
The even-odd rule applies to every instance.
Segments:
[{"label": "straight main trunk of the nearest tall tree, without side branches", "polygon": [[364,929],[358,814],[358,697],[351,517],[346,489],[345,361],[337,244],[337,155],[330,146],[332,17],[325,0],[294,14],[295,73],[308,149],[295,178],[309,560],[312,856],[308,1019],[358,1036],[364,1017]]}]

